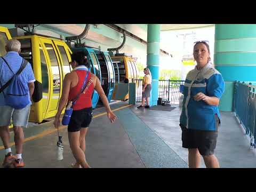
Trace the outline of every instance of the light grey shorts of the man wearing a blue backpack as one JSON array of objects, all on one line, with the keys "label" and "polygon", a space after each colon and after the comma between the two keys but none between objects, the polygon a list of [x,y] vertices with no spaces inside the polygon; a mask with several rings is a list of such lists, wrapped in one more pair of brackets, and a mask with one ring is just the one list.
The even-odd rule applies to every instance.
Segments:
[{"label": "light grey shorts of the man wearing a blue backpack", "polygon": [[28,126],[28,118],[30,113],[30,104],[22,109],[14,109],[9,106],[0,106],[0,126],[8,126],[11,123],[14,126]]}]

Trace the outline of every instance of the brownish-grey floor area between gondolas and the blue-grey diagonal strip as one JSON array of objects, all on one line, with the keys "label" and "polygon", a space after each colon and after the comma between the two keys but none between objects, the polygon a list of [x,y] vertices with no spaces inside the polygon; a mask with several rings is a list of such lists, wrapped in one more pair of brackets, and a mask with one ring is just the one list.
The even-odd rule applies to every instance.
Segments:
[{"label": "brownish-grey floor area between gondolas and the blue-grey diagonal strip", "polygon": [[[116,103],[111,108],[115,109],[124,105],[127,104]],[[101,112],[105,112],[105,110],[96,109],[93,111],[93,114],[95,116]],[[31,127],[25,129],[25,135],[35,132],[35,128],[38,130],[47,126],[50,130],[54,129],[52,122],[47,122],[37,125],[33,129]],[[11,138],[13,138],[12,135],[13,133]],[[67,129],[61,130],[60,135],[62,135],[64,143],[62,161],[57,161],[56,144],[58,137],[57,132],[54,132],[42,138],[25,142],[22,156],[26,167],[70,167],[70,164],[75,162],[75,159],[69,148]],[[14,146],[12,146],[12,151],[15,151]],[[87,162],[92,167],[145,167],[125,130],[122,128],[122,124],[120,124],[118,119],[115,124],[111,124],[106,115],[92,120],[86,135],[85,155]],[[3,156],[4,150],[0,150],[0,157]]]}]

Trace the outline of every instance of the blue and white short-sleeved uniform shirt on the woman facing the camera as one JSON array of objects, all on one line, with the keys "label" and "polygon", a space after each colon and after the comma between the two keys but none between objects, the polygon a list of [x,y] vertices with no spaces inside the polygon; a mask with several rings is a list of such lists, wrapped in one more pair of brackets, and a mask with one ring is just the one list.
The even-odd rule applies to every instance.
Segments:
[{"label": "blue and white short-sleeved uniform shirt on the woman facing the camera", "polygon": [[183,90],[183,104],[180,123],[187,129],[215,131],[215,118],[219,119],[218,106],[210,106],[203,100],[195,101],[194,96],[202,92],[209,97],[221,98],[225,90],[225,82],[218,70],[209,62],[200,70],[196,67],[189,71]]}]

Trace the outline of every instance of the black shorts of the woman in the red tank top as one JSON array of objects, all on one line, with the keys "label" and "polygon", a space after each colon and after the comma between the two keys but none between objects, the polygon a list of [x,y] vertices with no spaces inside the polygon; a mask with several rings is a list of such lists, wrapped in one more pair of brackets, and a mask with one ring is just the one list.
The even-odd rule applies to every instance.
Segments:
[{"label": "black shorts of the woman in the red tank top", "polygon": [[80,131],[81,127],[85,128],[90,125],[92,121],[92,108],[84,108],[81,110],[74,110],[70,122],[68,124],[68,132]]}]

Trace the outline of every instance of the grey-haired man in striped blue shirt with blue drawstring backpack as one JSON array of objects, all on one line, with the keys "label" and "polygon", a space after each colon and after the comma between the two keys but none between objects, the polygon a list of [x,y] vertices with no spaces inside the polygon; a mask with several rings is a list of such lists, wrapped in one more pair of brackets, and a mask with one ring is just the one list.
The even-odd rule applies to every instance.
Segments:
[{"label": "grey-haired man in striped blue shirt with blue drawstring backpack", "polygon": [[[17,39],[7,41],[6,54],[0,57],[0,137],[5,148],[3,167],[13,165],[23,167],[22,127],[28,126],[31,97],[34,92],[35,77],[31,65],[20,57],[21,44]],[[13,124],[16,155],[9,146],[9,125]]]}]

